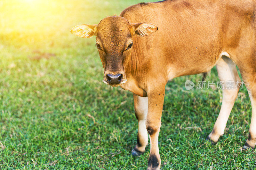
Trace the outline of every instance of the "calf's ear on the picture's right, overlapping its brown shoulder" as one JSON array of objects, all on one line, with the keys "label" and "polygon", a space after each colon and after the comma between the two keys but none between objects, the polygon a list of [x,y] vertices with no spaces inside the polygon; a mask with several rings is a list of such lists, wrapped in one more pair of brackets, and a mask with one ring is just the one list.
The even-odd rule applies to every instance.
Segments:
[{"label": "calf's ear on the picture's right, overlapping its brown shoulder", "polygon": [[133,34],[139,35],[141,37],[147,36],[152,34],[158,30],[157,26],[154,24],[149,23],[139,23],[139,24],[132,24]]}]

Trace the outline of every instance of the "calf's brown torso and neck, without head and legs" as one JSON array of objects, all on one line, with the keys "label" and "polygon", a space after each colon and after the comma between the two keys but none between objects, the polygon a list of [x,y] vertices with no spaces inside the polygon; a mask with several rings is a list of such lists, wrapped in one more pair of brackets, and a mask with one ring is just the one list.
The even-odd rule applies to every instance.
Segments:
[{"label": "calf's brown torso and neck, without head and legs", "polygon": [[[130,22],[149,22],[158,27],[156,33],[147,37],[134,37],[126,75],[130,73],[145,90],[145,82],[165,83],[175,77],[209,71],[221,54],[229,54],[238,62],[244,51],[237,48],[255,43],[253,1],[248,1],[247,6],[241,2],[177,0],[141,3],[125,9],[120,16]],[[129,81],[121,85],[145,96],[128,86]]]}]

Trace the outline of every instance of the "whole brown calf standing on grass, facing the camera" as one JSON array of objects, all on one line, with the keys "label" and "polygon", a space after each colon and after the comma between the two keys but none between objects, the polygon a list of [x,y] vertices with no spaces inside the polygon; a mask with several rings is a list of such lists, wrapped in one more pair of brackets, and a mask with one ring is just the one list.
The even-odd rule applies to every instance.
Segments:
[{"label": "whole brown calf standing on grass, facing the camera", "polygon": [[[97,37],[104,83],[133,92],[139,130],[132,155],[145,151],[149,134],[148,169],[159,169],[161,163],[158,134],[167,81],[207,72],[214,65],[220,80],[225,82],[240,81],[236,65],[241,71],[252,103],[251,126],[244,148],[254,148],[255,18],[254,0],[166,0],[133,5],[120,16],[71,30],[80,37]],[[223,90],[220,114],[208,136],[213,143],[224,133],[238,90]]]}]

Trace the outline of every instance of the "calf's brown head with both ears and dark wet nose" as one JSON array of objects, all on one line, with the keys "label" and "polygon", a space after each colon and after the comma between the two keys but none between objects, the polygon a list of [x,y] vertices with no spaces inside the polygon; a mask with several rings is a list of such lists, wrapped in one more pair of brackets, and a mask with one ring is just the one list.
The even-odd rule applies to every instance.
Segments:
[{"label": "calf's brown head with both ears and dark wet nose", "polygon": [[130,60],[133,36],[146,36],[157,31],[153,24],[130,23],[126,18],[111,16],[96,25],[79,25],[71,33],[83,38],[96,36],[96,47],[104,68],[103,82],[119,86],[126,82],[125,70]]}]

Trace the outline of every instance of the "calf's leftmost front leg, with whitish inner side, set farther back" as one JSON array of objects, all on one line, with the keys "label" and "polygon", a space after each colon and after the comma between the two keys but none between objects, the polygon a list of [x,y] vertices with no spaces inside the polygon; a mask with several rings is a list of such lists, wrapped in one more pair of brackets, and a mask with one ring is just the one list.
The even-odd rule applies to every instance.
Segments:
[{"label": "calf's leftmost front leg, with whitish inner side, set farther back", "polygon": [[148,113],[148,97],[140,97],[133,94],[134,110],[138,120],[137,144],[132,150],[132,156],[140,156],[145,152],[148,144],[148,131],[146,129],[146,118]]}]

